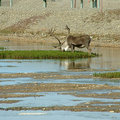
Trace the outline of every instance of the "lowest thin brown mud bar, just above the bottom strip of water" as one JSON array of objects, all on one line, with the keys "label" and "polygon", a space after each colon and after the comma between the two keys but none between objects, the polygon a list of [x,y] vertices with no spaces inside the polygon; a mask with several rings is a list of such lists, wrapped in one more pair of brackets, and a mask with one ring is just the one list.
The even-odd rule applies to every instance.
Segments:
[{"label": "lowest thin brown mud bar, just above the bottom strip of water", "polygon": [[96,112],[120,112],[120,105],[106,105],[106,106],[95,106],[91,104],[83,104],[77,106],[52,106],[52,107],[13,107],[13,108],[0,108],[0,110],[43,110],[43,111],[54,111],[54,110],[64,110],[64,111],[96,111]]}]

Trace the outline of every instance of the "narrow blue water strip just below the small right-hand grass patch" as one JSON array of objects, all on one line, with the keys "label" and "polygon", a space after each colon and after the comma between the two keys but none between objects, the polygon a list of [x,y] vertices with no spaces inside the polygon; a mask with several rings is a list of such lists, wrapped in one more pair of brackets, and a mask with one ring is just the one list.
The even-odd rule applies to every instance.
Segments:
[{"label": "narrow blue water strip just below the small right-hand grass patch", "polygon": [[34,79],[34,78],[0,78],[0,85],[16,85],[22,83],[73,83],[73,84],[107,84],[111,86],[120,86],[120,80],[110,79],[93,79],[93,78],[79,78],[79,79]]}]

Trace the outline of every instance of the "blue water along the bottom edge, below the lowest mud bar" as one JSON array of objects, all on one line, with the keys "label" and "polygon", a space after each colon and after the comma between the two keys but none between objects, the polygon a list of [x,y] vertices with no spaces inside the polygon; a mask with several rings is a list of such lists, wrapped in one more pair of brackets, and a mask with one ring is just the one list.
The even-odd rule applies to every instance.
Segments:
[{"label": "blue water along the bottom edge, below the lowest mud bar", "polygon": [[[42,115],[21,115],[21,113],[43,113]],[[119,120],[119,113],[70,112],[70,111],[1,111],[2,120]]]}]

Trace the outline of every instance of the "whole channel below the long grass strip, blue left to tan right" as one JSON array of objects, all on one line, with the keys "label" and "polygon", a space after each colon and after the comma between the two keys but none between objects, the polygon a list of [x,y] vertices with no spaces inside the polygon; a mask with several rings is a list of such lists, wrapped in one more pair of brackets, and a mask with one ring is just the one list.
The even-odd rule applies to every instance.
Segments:
[{"label": "whole channel below the long grass strip, blue left to tan right", "polygon": [[102,56],[65,60],[0,60],[0,73],[61,72],[62,70],[120,71],[120,48],[96,48]]}]

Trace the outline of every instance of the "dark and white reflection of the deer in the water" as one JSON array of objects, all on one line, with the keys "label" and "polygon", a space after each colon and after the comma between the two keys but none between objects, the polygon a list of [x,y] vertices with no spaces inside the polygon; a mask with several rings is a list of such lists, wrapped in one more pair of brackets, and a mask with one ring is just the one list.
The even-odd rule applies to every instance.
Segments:
[{"label": "dark and white reflection of the deer in the water", "polygon": [[77,59],[77,60],[61,60],[60,66],[65,67],[66,70],[71,69],[90,69],[91,58],[88,59]]}]

